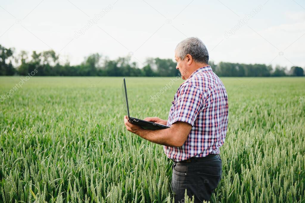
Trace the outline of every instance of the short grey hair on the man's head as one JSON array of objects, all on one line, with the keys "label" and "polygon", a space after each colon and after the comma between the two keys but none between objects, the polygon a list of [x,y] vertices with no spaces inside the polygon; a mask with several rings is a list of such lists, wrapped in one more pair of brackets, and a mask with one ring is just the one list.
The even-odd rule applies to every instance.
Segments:
[{"label": "short grey hair on the man's head", "polygon": [[177,57],[184,59],[190,54],[196,62],[209,64],[209,53],[204,43],[197,37],[189,37],[182,40],[176,46]]}]

